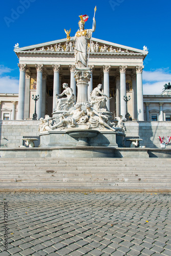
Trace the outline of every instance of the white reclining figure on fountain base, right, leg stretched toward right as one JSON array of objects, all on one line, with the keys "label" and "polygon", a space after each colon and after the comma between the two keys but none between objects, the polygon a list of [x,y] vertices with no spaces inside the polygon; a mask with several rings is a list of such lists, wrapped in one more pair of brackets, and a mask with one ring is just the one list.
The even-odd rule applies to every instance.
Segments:
[{"label": "white reclining figure on fountain base, right, leg stretched toward right", "polygon": [[106,118],[105,115],[100,115],[97,111],[95,111],[92,107],[91,104],[87,103],[86,104],[86,110],[87,110],[87,115],[89,116],[89,120],[87,123],[88,129],[95,128],[99,126],[105,126],[108,127],[110,130],[115,132],[115,128],[111,127],[109,124],[107,124],[102,118]]}]

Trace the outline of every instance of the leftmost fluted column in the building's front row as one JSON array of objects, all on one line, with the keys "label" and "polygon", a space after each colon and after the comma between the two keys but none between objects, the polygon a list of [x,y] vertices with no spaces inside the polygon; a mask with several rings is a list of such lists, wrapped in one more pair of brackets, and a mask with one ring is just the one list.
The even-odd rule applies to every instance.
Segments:
[{"label": "leftmost fluted column in the building's front row", "polygon": [[18,119],[24,119],[25,111],[25,76],[26,64],[18,64],[19,67],[19,92],[18,92]]}]

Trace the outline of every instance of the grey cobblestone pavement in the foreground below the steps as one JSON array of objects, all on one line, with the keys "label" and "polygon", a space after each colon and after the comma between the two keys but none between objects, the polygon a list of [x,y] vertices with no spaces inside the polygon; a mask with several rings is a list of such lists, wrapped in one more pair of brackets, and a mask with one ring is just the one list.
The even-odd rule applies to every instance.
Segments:
[{"label": "grey cobblestone pavement in the foreground below the steps", "polygon": [[0,255],[171,255],[170,196],[0,193]]}]

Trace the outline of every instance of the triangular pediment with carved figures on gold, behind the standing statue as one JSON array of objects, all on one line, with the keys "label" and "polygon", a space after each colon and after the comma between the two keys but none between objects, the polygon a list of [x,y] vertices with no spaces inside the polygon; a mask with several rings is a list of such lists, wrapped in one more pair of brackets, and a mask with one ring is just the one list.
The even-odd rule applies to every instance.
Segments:
[{"label": "triangular pediment with carved figures on gold, behind the standing statue", "polygon": [[[74,43],[72,42],[74,37],[71,37],[71,41],[67,41],[66,38],[44,42],[42,44],[22,47],[14,49],[14,52],[22,53],[74,53]],[[69,43],[72,44],[69,45]],[[88,48],[90,47],[90,42],[88,42]],[[89,49],[88,49],[89,50]],[[109,42],[101,39],[92,37],[92,47],[91,54],[140,54],[146,56],[147,51],[139,50],[132,47],[127,47],[123,45],[116,44],[114,42]]]}]

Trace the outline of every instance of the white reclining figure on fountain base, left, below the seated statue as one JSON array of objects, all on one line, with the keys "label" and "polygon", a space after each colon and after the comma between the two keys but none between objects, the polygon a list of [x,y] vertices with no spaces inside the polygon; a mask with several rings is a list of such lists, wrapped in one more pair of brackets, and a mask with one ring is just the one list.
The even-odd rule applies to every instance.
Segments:
[{"label": "white reclining figure on fountain base, left, below the seated statue", "polygon": [[[77,103],[75,105],[75,109],[68,113],[63,113],[62,116],[60,116],[60,122],[57,124],[54,124],[51,129],[55,129],[57,127],[61,127],[65,124],[69,124],[71,127],[74,127],[79,119],[85,115],[84,111],[81,110],[82,104]],[[65,117],[65,116],[71,116],[71,117]]]}]

